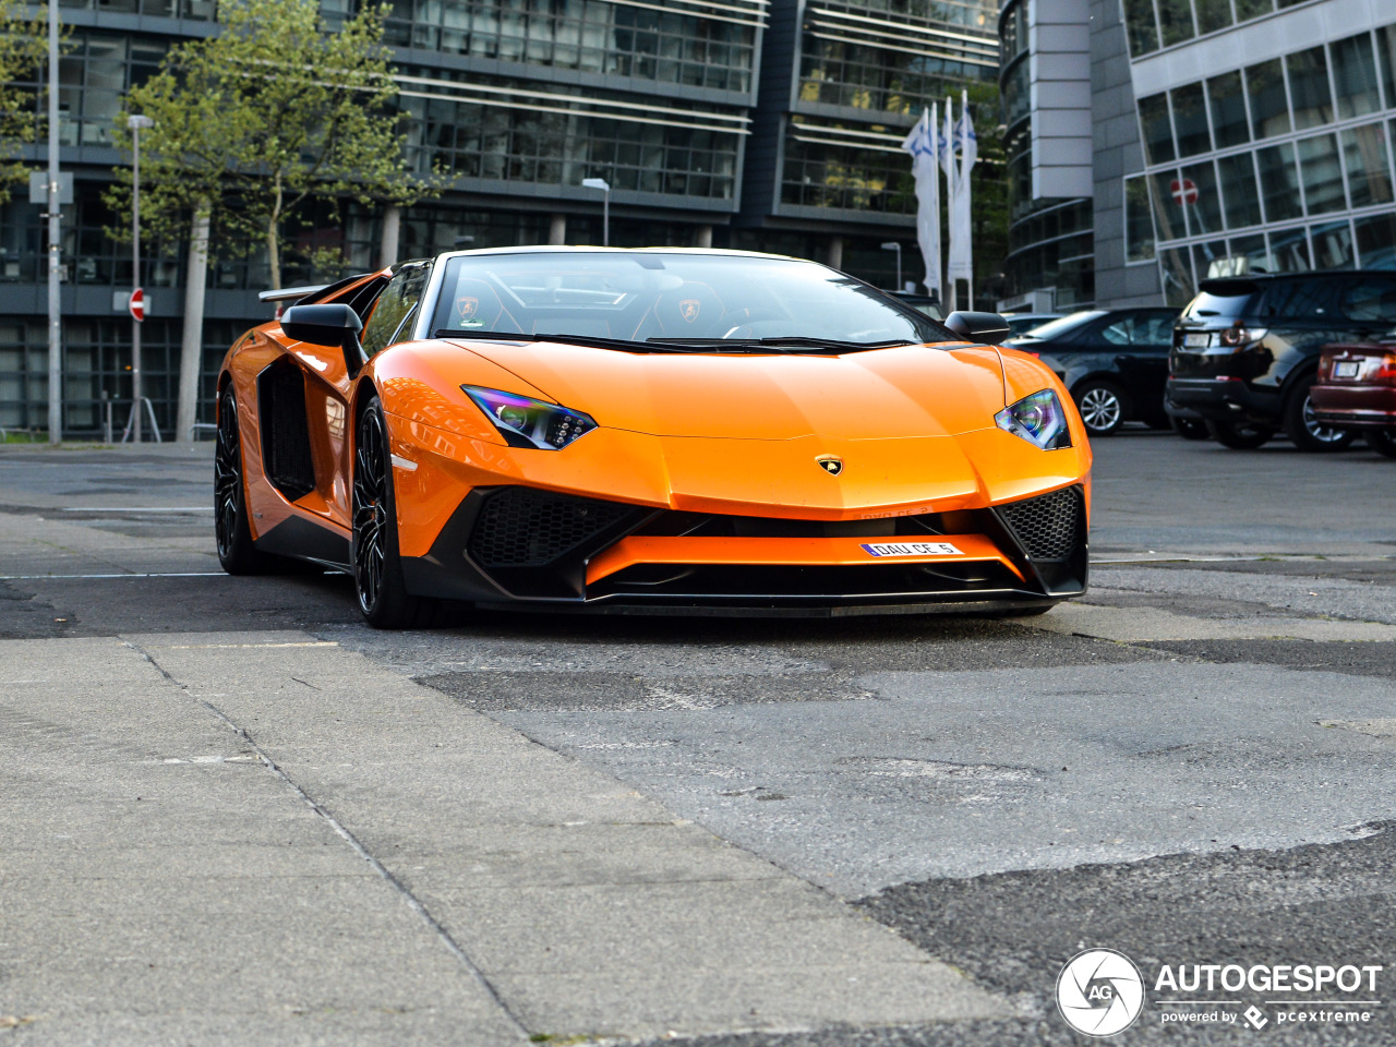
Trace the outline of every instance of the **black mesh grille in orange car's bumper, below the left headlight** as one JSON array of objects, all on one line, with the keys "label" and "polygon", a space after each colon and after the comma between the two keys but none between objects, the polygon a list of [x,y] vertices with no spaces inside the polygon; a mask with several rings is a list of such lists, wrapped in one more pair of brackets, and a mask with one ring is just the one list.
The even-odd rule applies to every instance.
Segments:
[{"label": "black mesh grille in orange car's bumper, below the left headlight", "polygon": [[480,510],[470,556],[482,567],[542,567],[634,511],[614,501],[505,487]]}]

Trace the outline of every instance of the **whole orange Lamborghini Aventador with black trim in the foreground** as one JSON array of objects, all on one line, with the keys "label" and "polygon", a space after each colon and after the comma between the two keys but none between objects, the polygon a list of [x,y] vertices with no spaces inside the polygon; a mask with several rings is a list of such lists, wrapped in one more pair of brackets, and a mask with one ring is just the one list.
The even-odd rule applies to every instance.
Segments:
[{"label": "whole orange Lamborghini Aventador with black trim in the foreground", "polygon": [[1090,448],[1034,357],[815,262],[458,251],[302,289],[218,378],[218,554],[437,607],[1033,613]]}]

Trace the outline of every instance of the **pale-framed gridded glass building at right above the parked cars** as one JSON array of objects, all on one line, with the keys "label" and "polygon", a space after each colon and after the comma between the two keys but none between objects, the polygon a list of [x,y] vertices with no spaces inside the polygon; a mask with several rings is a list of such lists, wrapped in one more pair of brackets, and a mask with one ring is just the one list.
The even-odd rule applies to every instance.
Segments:
[{"label": "pale-framed gridded glass building at right above the parked cars", "polygon": [[[1388,0],[1022,3],[1079,20],[1054,46],[1089,39],[1096,304],[1181,306],[1209,275],[1396,268]],[[1051,116],[1044,94],[1022,119]]]}]

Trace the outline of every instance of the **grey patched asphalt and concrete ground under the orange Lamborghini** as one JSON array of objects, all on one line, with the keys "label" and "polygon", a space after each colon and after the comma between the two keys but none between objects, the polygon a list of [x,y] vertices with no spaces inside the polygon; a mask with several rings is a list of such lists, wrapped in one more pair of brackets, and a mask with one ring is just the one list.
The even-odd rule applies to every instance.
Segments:
[{"label": "grey patched asphalt and concrete ground under the orange Lamborghini", "polygon": [[[1393,955],[1374,452],[1097,441],[1092,591],[1037,618],[405,634],[223,575],[209,472],[0,450],[17,1044],[1081,1043],[1087,946]],[[1396,1043],[1382,979],[1360,1029],[1150,993],[1118,1041]]]}]

